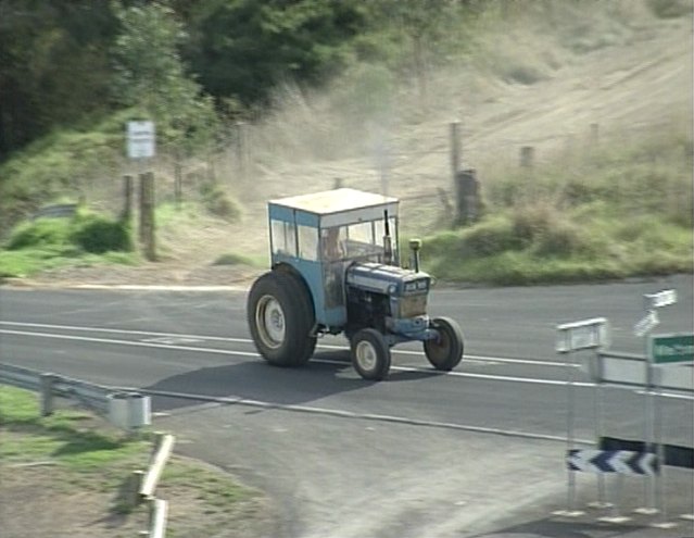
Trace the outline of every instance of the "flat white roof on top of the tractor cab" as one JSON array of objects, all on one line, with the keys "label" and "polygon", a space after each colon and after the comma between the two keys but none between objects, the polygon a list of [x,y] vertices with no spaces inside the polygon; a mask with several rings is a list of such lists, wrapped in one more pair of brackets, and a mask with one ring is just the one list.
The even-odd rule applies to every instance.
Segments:
[{"label": "flat white roof on top of the tractor cab", "polygon": [[398,199],[375,195],[373,192],[364,192],[362,190],[342,188],[270,200],[269,203],[314,213],[316,215],[329,215],[374,208],[376,205],[393,204],[398,203]]}]

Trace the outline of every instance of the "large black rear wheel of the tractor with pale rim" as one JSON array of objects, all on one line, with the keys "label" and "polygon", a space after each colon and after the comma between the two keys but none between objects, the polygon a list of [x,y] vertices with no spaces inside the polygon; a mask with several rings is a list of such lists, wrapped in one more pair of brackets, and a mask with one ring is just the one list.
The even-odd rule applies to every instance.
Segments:
[{"label": "large black rear wheel of the tractor with pale rim", "polygon": [[265,273],[247,301],[251,336],[258,353],[275,366],[301,366],[316,347],[315,323],[306,285],[288,272]]}]

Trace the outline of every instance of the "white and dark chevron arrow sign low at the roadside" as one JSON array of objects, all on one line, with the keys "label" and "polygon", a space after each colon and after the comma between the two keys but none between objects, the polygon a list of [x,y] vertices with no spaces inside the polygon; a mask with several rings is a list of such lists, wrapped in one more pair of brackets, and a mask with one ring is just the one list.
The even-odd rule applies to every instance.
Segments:
[{"label": "white and dark chevron arrow sign low at the roadside", "polygon": [[659,472],[656,454],[629,450],[573,449],[567,452],[566,463],[571,471],[584,473],[656,475]]}]

